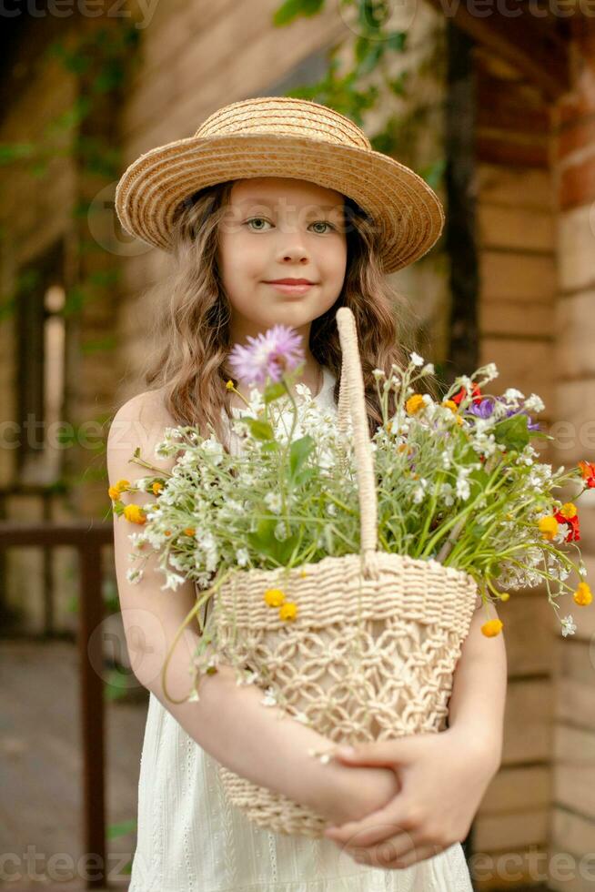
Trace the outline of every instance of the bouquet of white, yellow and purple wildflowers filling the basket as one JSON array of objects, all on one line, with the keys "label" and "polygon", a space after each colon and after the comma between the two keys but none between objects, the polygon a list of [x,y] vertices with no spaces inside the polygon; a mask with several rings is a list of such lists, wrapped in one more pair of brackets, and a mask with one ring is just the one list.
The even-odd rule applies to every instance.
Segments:
[{"label": "bouquet of white, yellow and purple wildflowers filling the basket", "polygon": [[[208,437],[193,427],[168,428],[156,454],[181,451],[171,473],[136,450],[131,461],[152,472],[134,486],[124,480],[109,490],[113,511],[142,528],[130,536],[130,558],[139,565],[129,570],[129,582],[142,578],[143,560],[157,552],[163,589],[193,580],[201,593],[187,622],[230,574],[287,571],[360,547],[350,424],[341,433],[334,414],[305,385],[293,387],[304,360],[297,332],[277,325],[248,342],[232,351],[232,368],[241,380],[266,386],[250,390],[248,400],[239,394],[246,408],[232,409],[241,450],[225,451],[212,428]],[[439,400],[419,392],[421,379],[433,372],[415,352],[407,368],[393,366],[389,377],[374,371],[383,417],[371,441],[378,550],[464,571],[484,603],[543,583],[557,613],[566,593],[579,606],[589,604],[574,502],[595,486],[595,464],[554,471],[540,462],[531,440],[553,439],[532,417],[543,403],[519,390],[484,390],[498,376],[493,363],[460,376]],[[239,393],[233,381],[227,387]],[[574,501],[563,502],[556,493],[568,486]],[[135,491],[155,494],[156,502],[124,504],[123,493]],[[282,588],[262,597],[284,623],[298,617],[299,603],[287,600]],[[564,636],[576,631],[570,613],[560,623]],[[500,620],[489,620],[482,631],[492,636],[501,628]],[[215,626],[207,622],[191,668],[190,699],[198,699],[197,678],[216,672],[217,660]],[[238,684],[255,680],[237,670]],[[276,702],[270,688],[267,697],[263,702]]]}]

